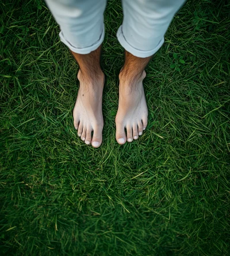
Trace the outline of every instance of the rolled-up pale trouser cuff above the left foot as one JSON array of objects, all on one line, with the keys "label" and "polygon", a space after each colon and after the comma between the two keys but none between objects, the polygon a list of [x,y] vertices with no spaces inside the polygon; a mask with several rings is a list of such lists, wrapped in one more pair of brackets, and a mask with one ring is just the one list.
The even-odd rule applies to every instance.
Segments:
[{"label": "rolled-up pale trouser cuff above the left foot", "polygon": [[101,36],[99,37],[99,40],[97,42],[95,42],[94,44],[92,44],[91,46],[84,47],[84,48],[77,48],[75,46],[72,46],[72,44],[65,39],[62,31],[59,33],[59,37],[60,37],[60,40],[64,44],[66,44],[66,46],[68,46],[68,48],[71,51],[78,53],[78,54],[89,54],[91,51],[96,50],[102,44],[104,37],[105,37],[105,27],[103,27],[103,29],[102,29]]}]

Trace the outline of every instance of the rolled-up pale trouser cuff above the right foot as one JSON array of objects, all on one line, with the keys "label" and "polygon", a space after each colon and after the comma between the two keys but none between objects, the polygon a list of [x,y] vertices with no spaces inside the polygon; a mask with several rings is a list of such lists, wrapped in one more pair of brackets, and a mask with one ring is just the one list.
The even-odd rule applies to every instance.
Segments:
[{"label": "rolled-up pale trouser cuff above the right foot", "polygon": [[122,32],[122,25],[118,28],[117,39],[118,39],[119,43],[121,44],[121,46],[125,48],[125,50],[127,50],[132,55],[139,57],[139,58],[147,58],[147,57],[154,55],[159,50],[159,48],[162,47],[162,44],[164,43],[164,37],[163,37],[162,40],[160,40],[160,42],[154,49],[148,50],[148,51],[138,50],[137,48],[131,46],[131,44],[129,44],[127,42],[127,40],[125,39],[125,36]]}]

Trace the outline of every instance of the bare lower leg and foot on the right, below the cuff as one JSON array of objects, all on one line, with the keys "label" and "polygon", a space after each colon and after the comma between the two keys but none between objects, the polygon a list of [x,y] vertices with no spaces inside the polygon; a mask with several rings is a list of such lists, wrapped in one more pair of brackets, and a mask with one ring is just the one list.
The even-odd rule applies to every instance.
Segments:
[{"label": "bare lower leg and foot on the right, below the cuff", "polygon": [[[119,74],[119,105],[116,115],[116,139],[119,144],[137,140],[147,126],[144,68],[151,57],[139,58],[125,51],[125,64]],[[125,134],[127,129],[127,135]]]}]

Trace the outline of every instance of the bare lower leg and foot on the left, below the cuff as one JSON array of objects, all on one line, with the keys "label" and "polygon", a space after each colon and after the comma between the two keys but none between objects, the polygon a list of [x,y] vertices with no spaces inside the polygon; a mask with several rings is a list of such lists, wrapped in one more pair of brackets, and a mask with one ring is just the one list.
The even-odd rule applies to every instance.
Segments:
[{"label": "bare lower leg and foot on the left, below the cuff", "polygon": [[[72,52],[79,64],[78,80],[80,87],[76,99],[73,116],[74,127],[86,144],[95,148],[102,143],[102,92],[104,88],[104,73],[100,67],[101,46],[90,54]],[[91,133],[93,131],[93,138]]]}]

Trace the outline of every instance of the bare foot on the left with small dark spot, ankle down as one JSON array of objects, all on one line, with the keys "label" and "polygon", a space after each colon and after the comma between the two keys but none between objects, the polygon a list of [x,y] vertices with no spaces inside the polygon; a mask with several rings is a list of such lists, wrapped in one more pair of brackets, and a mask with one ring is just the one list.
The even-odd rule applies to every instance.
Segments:
[{"label": "bare foot on the left with small dark spot, ankle down", "polygon": [[[98,74],[97,78],[91,79],[83,76],[81,70],[78,72],[80,87],[73,111],[74,127],[78,130],[78,136],[94,148],[98,148],[102,143],[104,79],[103,73]],[[93,138],[91,137],[92,131]]]}]

